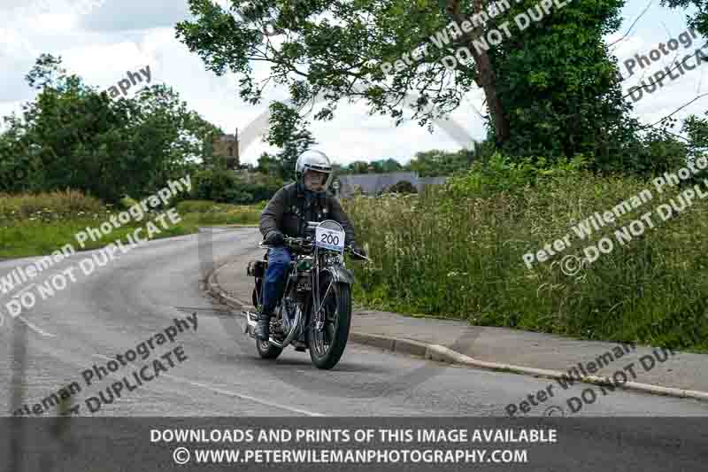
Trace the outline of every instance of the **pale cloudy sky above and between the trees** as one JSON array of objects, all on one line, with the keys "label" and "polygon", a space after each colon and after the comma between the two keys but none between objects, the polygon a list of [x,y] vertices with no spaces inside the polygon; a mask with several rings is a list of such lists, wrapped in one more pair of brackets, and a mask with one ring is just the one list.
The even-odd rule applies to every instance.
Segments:
[{"label": "pale cloudy sky above and between the trees", "polygon": [[[222,5],[226,2],[217,1]],[[619,58],[620,73],[629,75],[625,61],[636,54],[649,56],[659,43],[679,39],[688,27],[686,13],[662,7],[658,0],[628,0],[622,10],[620,31],[606,38],[608,44],[614,43],[612,53]],[[187,0],[2,0],[0,116],[20,112],[21,105],[35,96],[25,75],[42,53],[61,56],[70,73],[106,90],[127,79],[127,72],[140,74],[140,69],[150,66],[151,84],[172,86],[204,119],[227,133],[238,128],[242,137],[243,130],[249,130],[247,135],[254,139],[242,145],[241,160],[255,164],[263,151],[277,150],[260,140],[258,136],[265,129],[254,120],[260,117],[263,121],[269,100],[286,99],[287,89],[267,89],[266,99],[258,105],[242,102],[235,75],[217,77],[207,71],[201,59],[175,39],[174,24],[189,18]],[[627,93],[640,79],[646,80],[650,74],[670,66],[677,54],[678,58],[693,54],[704,44],[700,36],[691,39],[689,47],[679,43],[677,50],[668,56],[662,54],[650,66],[635,66],[635,74],[624,82]],[[708,48],[705,51],[708,55]],[[689,58],[688,62],[692,66],[696,58]],[[258,65],[255,70],[266,76],[264,66]],[[652,94],[645,92],[635,102],[635,116],[646,124],[654,123],[708,92],[708,83],[704,83],[706,71],[708,66],[696,67],[686,74],[674,72],[678,75],[675,80],[665,80],[662,88]],[[143,84],[144,81],[143,75]],[[140,87],[138,84],[127,89],[126,84],[124,81],[127,97]],[[340,104],[334,120],[313,121],[310,129],[318,141],[316,149],[326,152],[335,162],[393,158],[404,163],[417,151],[457,151],[473,139],[482,139],[485,128],[478,111],[483,101],[481,90],[472,90],[450,114],[448,122],[436,126],[432,134],[415,121],[395,127],[389,117],[369,115],[365,104],[346,103]],[[691,113],[703,115],[706,110],[708,97],[703,97],[673,116],[681,120]]]}]

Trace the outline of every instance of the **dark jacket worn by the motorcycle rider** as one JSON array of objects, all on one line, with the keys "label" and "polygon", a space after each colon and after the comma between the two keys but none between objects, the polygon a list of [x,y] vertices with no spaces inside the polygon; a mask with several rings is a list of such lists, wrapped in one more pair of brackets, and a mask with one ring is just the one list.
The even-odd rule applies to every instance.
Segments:
[{"label": "dark jacket worn by the motorcycle rider", "polygon": [[276,229],[286,236],[303,237],[307,221],[334,220],[342,225],[346,234],[345,244],[355,244],[354,227],[339,200],[329,194],[318,194],[310,205],[304,192],[296,183],[290,183],[275,192],[271,201],[260,213],[260,229],[263,237]]}]

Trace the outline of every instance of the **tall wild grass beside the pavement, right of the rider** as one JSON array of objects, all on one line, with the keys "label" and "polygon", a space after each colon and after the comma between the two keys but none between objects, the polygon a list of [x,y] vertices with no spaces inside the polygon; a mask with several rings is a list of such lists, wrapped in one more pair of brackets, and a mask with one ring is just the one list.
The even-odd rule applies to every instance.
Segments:
[{"label": "tall wild grass beside the pavement, right of the rider", "polygon": [[[571,226],[644,189],[654,199],[617,227],[577,238]],[[704,191],[708,191],[703,187]],[[517,192],[454,197],[358,197],[345,207],[370,246],[354,296],[369,308],[426,313],[583,339],[671,344],[708,352],[708,199],[602,255],[575,276],[560,260],[675,196],[634,178],[578,172]],[[571,233],[572,247],[528,269],[530,251]],[[673,344],[675,345],[675,344]]]}]

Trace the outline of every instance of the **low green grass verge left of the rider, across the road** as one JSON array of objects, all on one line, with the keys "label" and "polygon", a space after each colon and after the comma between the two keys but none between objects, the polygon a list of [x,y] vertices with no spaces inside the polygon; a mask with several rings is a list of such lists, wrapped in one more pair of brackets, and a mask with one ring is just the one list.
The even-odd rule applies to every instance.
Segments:
[{"label": "low green grass verge left of the rider, across the road", "polygon": [[[152,239],[196,233],[199,227],[212,225],[257,225],[263,204],[213,205],[212,202],[185,201],[176,209],[181,222],[168,228],[157,223],[159,234]],[[146,221],[132,221],[97,241],[86,242],[81,248],[75,235],[87,227],[97,228],[120,209],[101,205],[95,199],[78,192],[57,192],[42,195],[0,195],[0,259],[22,258],[50,254],[65,244],[77,251],[97,249],[115,241],[127,242],[127,235]],[[154,219],[156,214],[151,215]],[[142,237],[147,236],[143,230]]]}]

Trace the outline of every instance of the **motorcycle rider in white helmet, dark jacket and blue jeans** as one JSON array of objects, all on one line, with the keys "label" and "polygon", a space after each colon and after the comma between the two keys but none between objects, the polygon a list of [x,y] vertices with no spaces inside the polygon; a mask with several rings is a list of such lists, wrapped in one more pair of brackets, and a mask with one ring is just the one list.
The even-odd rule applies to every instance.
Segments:
[{"label": "motorcycle rider in white helmet, dark jacket and blue jeans", "polygon": [[304,151],[295,165],[296,182],[278,190],[260,215],[258,228],[268,249],[268,268],[264,277],[263,308],[255,330],[258,339],[267,341],[270,318],[282,298],[292,255],[283,245],[285,236],[305,236],[307,221],[334,220],[342,225],[345,244],[359,254],[365,251],[354,241],[354,227],[339,201],[327,194],[332,182],[332,165],[327,156],[314,150]]}]

